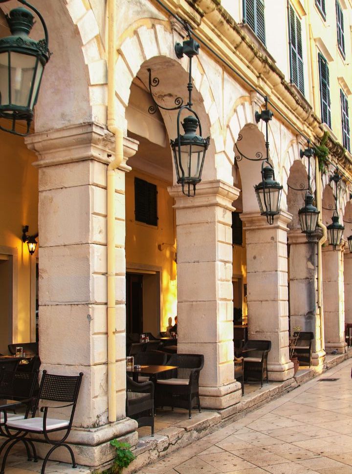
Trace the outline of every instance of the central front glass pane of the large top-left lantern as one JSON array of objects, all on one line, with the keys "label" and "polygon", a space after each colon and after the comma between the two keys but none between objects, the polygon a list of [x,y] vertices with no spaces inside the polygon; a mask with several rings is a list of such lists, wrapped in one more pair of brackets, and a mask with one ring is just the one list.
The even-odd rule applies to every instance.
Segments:
[{"label": "central front glass pane of the large top-left lantern", "polygon": [[11,104],[29,107],[36,62],[36,56],[11,51]]}]

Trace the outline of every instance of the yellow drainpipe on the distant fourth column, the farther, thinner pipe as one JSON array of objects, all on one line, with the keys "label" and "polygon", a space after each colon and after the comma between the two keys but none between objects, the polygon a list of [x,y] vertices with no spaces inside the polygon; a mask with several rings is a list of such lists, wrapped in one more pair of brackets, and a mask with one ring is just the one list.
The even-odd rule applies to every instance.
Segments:
[{"label": "yellow drainpipe on the distant fourth column, the farther, thinner pipe", "polygon": [[318,215],[318,227],[323,231],[323,236],[318,241],[318,307],[320,312],[320,337],[322,349],[325,349],[325,338],[324,338],[324,313],[322,303],[322,282],[323,282],[323,262],[322,262],[322,245],[326,242],[328,237],[328,231],[322,221],[322,191],[321,191],[321,172],[319,170],[318,158],[315,156],[315,186],[316,186],[316,197],[317,197],[317,209],[320,211]]}]

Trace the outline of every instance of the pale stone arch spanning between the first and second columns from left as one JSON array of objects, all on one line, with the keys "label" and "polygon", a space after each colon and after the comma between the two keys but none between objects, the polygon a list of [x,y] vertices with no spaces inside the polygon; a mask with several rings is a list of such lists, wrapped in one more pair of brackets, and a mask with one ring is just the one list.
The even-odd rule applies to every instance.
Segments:
[{"label": "pale stone arch spanning between the first and second columns from left", "polygon": [[[176,59],[174,52],[174,45],[176,41],[181,42],[182,38],[175,38],[176,33],[169,31],[164,24],[158,22],[154,23],[150,27],[147,25],[139,25],[135,29],[131,29],[131,35],[122,41],[118,48],[118,57],[116,62],[116,71],[118,77],[116,78],[116,89],[115,89],[115,107],[124,128],[126,128],[125,111],[129,104],[130,91],[132,81],[137,74],[144,74],[143,83],[147,84],[148,80],[145,76],[145,71],[140,71],[146,68],[147,65],[156,65],[158,62],[164,62],[165,65],[178,65],[181,66],[184,73],[188,74],[188,63],[189,60],[186,56],[182,59]],[[153,70],[152,70],[153,73]],[[197,57],[193,58],[192,63],[192,77],[194,81],[194,97],[198,97],[198,108],[200,105],[201,112],[195,106],[194,109],[200,116],[202,123],[202,134],[204,136],[210,135],[213,139],[210,144],[210,149],[207,152],[206,162],[203,169],[203,179],[214,179],[217,178],[217,157],[218,152],[223,151],[223,138],[220,129],[220,118],[219,113],[214,101],[214,96],[206,77],[205,71]],[[161,85],[161,77],[160,85]],[[186,89],[187,81],[184,82],[181,94],[185,97],[187,93]],[[170,84],[168,85],[170,92]],[[165,91],[166,92],[166,91]],[[169,95],[165,93],[165,95]],[[180,95],[180,94],[177,94]],[[172,99],[169,99],[172,100]],[[167,126],[167,123],[171,123],[171,120],[176,120],[177,112],[175,117],[170,118],[170,114],[163,112],[161,114],[164,117],[166,128],[171,131],[171,127]],[[206,118],[207,124],[202,121],[201,115]],[[205,121],[204,121],[205,122]],[[174,128],[175,130],[176,128]],[[214,149],[212,148],[214,147]],[[209,157],[215,156],[213,162],[210,162]]]}]

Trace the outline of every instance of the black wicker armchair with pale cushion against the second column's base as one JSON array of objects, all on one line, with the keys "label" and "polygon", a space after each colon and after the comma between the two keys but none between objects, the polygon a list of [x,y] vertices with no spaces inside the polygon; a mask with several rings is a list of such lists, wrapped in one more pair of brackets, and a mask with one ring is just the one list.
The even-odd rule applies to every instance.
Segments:
[{"label": "black wicker armchair with pale cushion against the second column's base", "polygon": [[188,416],[191,418],[194,405],[198,405],[200,412],[199,374],[204,366],[204,356],[173,354],[168,365],[177,368],[158,375],[155,406],[185,408],[188,409]]}]

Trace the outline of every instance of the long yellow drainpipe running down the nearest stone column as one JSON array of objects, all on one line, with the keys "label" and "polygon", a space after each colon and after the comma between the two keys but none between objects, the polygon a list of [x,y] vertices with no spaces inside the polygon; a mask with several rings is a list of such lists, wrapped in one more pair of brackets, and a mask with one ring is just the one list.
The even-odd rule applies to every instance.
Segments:
[{"label": "long yellow drainpipe running down the nearest stone column", "polygon": [[107,264],[108,264],[108,411],[116,421],[116,295],[115,295],[115,169],[123,160],[123,131],[115,116],[116,0],[108,1],[108,129],[115,135],[115,159],[107,171]]}]

